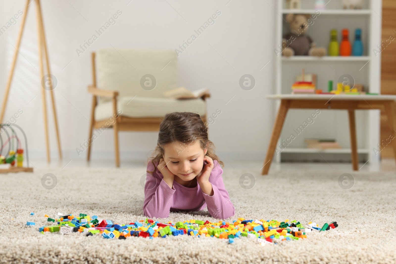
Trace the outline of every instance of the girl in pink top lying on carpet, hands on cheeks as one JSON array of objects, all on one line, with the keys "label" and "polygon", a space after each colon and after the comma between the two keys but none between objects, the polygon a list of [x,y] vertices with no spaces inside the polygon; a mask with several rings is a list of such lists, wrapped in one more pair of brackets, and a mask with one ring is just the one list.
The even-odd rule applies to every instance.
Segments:
[{"label": "girl in pink top lying on carpet, hands on cheeks", "polygon": [[164,218],[170,211],[200,211],[206,206],[214,218],[235,215],[221,177],[219,163],[224,163],[199,114],[166,114],[153,156],[147,164],[145,216]]}]

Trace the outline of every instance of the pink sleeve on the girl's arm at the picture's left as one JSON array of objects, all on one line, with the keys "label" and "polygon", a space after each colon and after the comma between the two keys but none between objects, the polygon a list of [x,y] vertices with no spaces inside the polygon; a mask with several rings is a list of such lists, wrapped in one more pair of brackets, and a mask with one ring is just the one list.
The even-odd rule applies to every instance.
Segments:
[{"label": "pink sleeve on the girl's arm at the picture's left", "polygon": [[[148,161],[147,170],[152,171],[154,166]],[[152,175],[147,173],[145,182],[145,201],[143,213],[146,217],[165,218],[169,216],[175,188],[170,188],[164,177],[158,171]]]}]

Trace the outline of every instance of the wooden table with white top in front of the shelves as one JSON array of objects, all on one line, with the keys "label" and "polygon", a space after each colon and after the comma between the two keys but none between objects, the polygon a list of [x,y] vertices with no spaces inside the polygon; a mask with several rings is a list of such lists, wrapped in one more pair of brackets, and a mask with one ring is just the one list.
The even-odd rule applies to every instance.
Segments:
[{"label": "wooden table with white top in front of the shelves", "polygon": [[[358,170],[358,151],[356,144],[355,130],[355,110],[385,110],[390,131],[396,129],[394,101],[396,95],[329,95],[329,94],[312,94],[312,95],[268,95],[268,99],[280,99],[280,106],[272,135],[268,144],[267,156],[264,160],[262,175],[267,175],[271,166],[272,157],[278,142],[280,132],[282,131],[284,118],[286,118],[289,108],[299,109],[337,109],[348,110],[349,130],[351,142],[352,167],[354,171]],[[391,141],[396,159],[396,140]]]}]

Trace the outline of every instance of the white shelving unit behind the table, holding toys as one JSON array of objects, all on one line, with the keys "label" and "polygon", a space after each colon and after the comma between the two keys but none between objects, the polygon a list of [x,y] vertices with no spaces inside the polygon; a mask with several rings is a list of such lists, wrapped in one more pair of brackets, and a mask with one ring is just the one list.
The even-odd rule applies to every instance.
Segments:
[{"label": "white shelving unit behind the table, holding toys", "polygon": [[[326,47],[330,42],[330,30],[335,28],[338,32],[338,42],[341,43],[341,31],[349,29],[349,40],[354,42],[356,28],[362,29],[362,42],[364,45],[363,56],[348,57],[313,57],[313,56],[276,56],[276,91],[277,94],[291,93],[291,85],[295,82],[295,76],[301,74],[305,68],[306,74],[317,74],[317,89],[327,91],[327,82],[333,80],[333,89],[338,79],[343,74],[350,74],[356,83],[361,83],[370,93],[380,93],[381,85],[381,56],[375,56],[373,49],[381,44],[381,13],[382,1],[366,0],[363,9],[343,9],[342,0],[331,0],[326,5],[326,10],[315,10],[314,0],[302,0],[301,8],[286,9],[286,0],[277,1],[276,12],[276,43],[278,48],[282,44],[284,34],[290,32],[285,17],[289,13],[316,14],[307,31],[318,47]],[[318,14],[318,12],[320,12]],[[279,101],[277,101],[277,107]],[[290,137],[293,129],[298,127],[313,112],[311,109],[290,109],[287,113],[286,122],[280,135],[278,144]],[[378,110],[356,111],[356,136],[358,143],[358,154],[365,154],[369,162],[377,162],[378,156],[372,151],[379,143],[380,116]],[[276,113],[275,113],[276,114]],[[315,150],[306,148],[305,138],[327,138],[336,139],[341,149]],[[304,133],[297,135],[289,146],[284,148],[280,155],[275,155],[279,162],[283,154],[301,155],[307,153],[320,154],[348,154],[350,153],[350,134],[348,125],[348,114],[344,110],[321,110],[321,113],[310,124]],[[319,155],[318,155],[319,156]],[[320,156],[319,156],[320,157]]]}]

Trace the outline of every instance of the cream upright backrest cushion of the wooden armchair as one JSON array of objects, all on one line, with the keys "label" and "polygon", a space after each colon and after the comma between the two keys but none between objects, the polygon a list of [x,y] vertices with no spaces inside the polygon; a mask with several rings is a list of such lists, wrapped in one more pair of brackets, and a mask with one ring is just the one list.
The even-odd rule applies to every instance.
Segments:
[{"label": "cream upright backrest cushion of the wooden armchair", "polygon": [[[103,48],[96,53],[97,87],[118,91],[120,97],[157,97],[177,87],[177,55],[170,49]],[[141,78],[151,74],[156,87],[141,87]],[[100,97],[99,104],[110,101]]]}]

